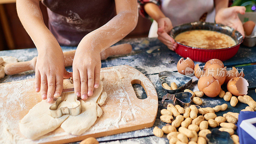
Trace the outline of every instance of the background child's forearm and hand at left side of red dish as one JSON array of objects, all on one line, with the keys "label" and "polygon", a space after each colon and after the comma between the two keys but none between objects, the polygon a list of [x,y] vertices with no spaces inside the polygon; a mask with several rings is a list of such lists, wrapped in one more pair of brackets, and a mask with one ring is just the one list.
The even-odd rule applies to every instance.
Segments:
[{"label": "background child's forearm and hand at left side of red dish", "polygon": [[158,39],[164,43],[170,50],[174,51],[177,47],[174,39],[169,35],[172,29],[172,22],[167,18],[161,9],[154,3],[146,3],[144,9],[147,14],[156,20],[158,24],[157,35]]}]

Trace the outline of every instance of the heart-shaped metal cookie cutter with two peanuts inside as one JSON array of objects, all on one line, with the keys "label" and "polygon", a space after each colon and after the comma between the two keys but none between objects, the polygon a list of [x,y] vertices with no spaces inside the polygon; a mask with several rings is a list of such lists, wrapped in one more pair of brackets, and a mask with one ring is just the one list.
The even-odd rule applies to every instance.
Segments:
[{"label": "heart-shaped metal cookie cutter with two peanuts inside", "polygon": [[[165,91],[167,91],[170,94],[174,94],[174,93],[182,92],[183,90],[188,88],[188,86],[192,84],[193,78],[190,76],[181,75],[175,72],[162,71],[158,74],[158,79],[160,82],[162,82],[161,86]],[[168,85],[170,85],[172,82],[175,82],[177,84],[178,88],[176,90],[167,90],[163,87],[164,83],[167,83]]]}]

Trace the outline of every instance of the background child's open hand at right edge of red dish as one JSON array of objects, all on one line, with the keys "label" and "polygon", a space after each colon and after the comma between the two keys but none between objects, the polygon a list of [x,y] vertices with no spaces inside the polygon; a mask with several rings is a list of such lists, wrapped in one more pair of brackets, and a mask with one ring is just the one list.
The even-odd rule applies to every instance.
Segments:
[{"label": "background child's open hand at right edge of red dish", "polygon": [[243,24],[238,18],[237,14],[244,14],[245,10],[246,8],[244,6],[232,6],[228,8],[222,8],[216,13],[215,22],[235,28],[244,37]]}]

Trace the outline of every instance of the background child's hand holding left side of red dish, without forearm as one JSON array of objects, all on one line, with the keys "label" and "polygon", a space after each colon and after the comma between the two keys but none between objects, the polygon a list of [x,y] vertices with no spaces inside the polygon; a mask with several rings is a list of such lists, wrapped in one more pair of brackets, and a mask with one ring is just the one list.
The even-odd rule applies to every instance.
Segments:
[{"label": "background child's hand holding left side of red dish, without forearm", "polygon": [[170,50],[174,51],[177,48],[177,43],[174,39],[168,34],[172,29],[172,22],[169,18],[160,18],[157,20],[158,30],[157,35],[158,39],[164,43]]}]

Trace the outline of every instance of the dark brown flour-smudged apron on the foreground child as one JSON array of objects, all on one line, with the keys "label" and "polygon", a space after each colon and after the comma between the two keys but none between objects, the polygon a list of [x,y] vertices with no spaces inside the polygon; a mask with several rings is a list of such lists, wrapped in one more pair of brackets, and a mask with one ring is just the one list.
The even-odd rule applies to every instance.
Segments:
[{"label": "dark brown flour-smudged apron on the foreground child", "polygon": [[115,15],[114,0],[42,0],[49,29],[60,45],[77,46],[82,38]]}]

